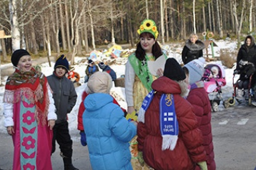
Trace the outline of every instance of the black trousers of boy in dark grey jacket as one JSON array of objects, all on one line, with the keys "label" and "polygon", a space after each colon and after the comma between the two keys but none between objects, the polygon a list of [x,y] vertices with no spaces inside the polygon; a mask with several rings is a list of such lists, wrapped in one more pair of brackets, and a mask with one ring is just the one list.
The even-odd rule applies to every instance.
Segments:
[{"label": "black trousers of boy in dark grey jacket", "polygon": [[56,140],[60,145],[60,151],[63,153],[65,157],[71,158],[73,149],[72,144],[73,141],[69,135],[69,124],[67,121],[60,122],[55,124],[53,127],[53,146],[51,149],[51,153],[56,150]]}]

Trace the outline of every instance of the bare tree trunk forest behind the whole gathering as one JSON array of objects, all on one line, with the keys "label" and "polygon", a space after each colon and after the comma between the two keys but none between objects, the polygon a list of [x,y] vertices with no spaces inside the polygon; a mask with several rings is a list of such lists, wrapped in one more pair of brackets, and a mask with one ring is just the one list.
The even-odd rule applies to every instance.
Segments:
[{"label": "bare tree trunk forest behind the whole gathering", "polygon": [[[184,41],[194,32],[214,39],[241,41],[254,35],[256,0],[1,0],[1,61],[13,50],[33,56],[51,53],[85,56],[106,44],[138,41],[137,29],[148,18],[156,22],[161,44]],[[210,37],[208,36],[208,37]],[[239,47],[239,46],[238,46]]]}]

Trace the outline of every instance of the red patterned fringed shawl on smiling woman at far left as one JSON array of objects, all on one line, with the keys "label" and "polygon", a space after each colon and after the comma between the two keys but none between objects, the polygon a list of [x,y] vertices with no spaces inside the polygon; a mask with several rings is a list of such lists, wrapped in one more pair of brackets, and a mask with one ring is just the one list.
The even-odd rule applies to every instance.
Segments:
[{"label": "red patterned fringed shawl on smiling woman at far left", "polygon": [[35,104],[37,122],[46,124],[49,108],[47,84],[46,77],[35,68],[31,68],[27,72],[16,68],[15,72],[6,80],[3,102],[15,104],[26,98],[31,104]]}]

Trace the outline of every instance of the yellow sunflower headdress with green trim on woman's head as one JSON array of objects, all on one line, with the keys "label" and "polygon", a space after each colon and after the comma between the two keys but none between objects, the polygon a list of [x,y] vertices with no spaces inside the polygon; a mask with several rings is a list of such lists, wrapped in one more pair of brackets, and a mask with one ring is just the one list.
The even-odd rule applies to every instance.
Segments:
[{"label": "yellow sunflower headdress with green trim on woman's head", "polygon": [[152,19],[144,19],[144,21],[142,21],[142,25],[139,26],[139,30],[137,30],[137,32],[139,35],[143,32],[149,32],[155,37],[155,39],[157,39],[158,36],[157,26],[155,25],[155,21],[153,21]]}]

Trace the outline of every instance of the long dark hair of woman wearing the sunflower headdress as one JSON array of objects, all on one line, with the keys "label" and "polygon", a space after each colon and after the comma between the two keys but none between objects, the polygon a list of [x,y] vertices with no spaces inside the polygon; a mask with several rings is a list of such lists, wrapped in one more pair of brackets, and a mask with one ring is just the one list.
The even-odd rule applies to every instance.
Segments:
[{"label": "long dark hair of woman wearing the sunflower headdress", "polygon": [[[155,39],[155,37],[149,32],[143,32],[142,34],[139,35],[139,38],[141,38],[141,37],[150,37],[150,38]],[[153,53],[153,56],[155,57],[155,59],[157,59],[158,57],[160,57],[162,55],[161,47],[157,43],[157,41],[155,41],[155,44],[152,47],[152,53]],[[145,50],[142,48],[140,41],[137,44],[137,49],[135,50],[135,56],[140,61],[145,59],[146,53],[145,53]]]}]

